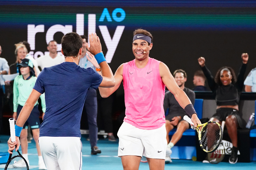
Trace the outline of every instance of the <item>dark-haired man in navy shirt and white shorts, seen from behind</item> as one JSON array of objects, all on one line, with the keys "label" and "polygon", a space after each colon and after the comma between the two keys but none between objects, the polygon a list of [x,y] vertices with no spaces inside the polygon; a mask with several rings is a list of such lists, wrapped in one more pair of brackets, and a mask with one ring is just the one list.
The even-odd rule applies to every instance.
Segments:
[{"label": "dark-haired man in navy shirt and white shorts, seen from behind", "polygon": [[[19,136],[35,102],[45,93],[46,111],[40,127],[39,145],[48,170],[81,169],[82,143],[80,141],[80,119],[87,91],[90,87],[113,87],[113,73],[101,51],[99,37],[89,34],[90,51],[97,60],[102,76],[91,68],[78,66],[82,55],[83,40],[77,33],[62,37],[61,52],[65,62],[47,67],[39,74],[36,84],[20,112],[15,125],[16,141],[8,140],[9,153],[20,146]],[[21,129],[20,129],[21,128]]]}]

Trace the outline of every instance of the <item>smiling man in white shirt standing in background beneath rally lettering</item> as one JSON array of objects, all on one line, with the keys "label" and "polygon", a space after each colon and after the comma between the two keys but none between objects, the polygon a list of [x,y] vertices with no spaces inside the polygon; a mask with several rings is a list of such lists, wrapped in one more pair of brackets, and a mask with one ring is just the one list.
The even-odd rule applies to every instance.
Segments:
[{"label": "smiling man in white shirt standing in background beneath rally lettering", "polygon": [[57,42],[55,40],[49,42],[47,50],[50,52],[49,54],[36,59],[38,66],[41,67],[42,70],[44,67],[51,67],[64,62],[64,56],[57,54]]}]

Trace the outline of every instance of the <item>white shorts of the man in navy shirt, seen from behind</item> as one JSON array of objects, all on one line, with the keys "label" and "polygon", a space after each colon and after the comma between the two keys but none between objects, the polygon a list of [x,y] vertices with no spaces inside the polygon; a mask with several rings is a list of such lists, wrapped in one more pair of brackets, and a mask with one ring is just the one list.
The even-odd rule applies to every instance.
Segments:
[{"label": "white shorts of the man in navy shirt, seen from behind", "polygon": [[80,137],[39,137],[39,146],[47,170],[81,170]]}]

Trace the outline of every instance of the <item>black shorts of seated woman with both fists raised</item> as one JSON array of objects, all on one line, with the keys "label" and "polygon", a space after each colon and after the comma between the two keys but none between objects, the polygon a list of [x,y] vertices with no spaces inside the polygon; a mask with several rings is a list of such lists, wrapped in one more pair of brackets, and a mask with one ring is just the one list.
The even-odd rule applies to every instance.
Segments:
[{"label": "black shorts of seated woman with both fists raised", "polygon": [[242,118],[240,117],[238,110],[233,109],[233,108],[218,108],[216,110],[216,113],[212,116],[216,119],[218,119],[220,122],[226,121],[226,117],[229,115],[234,115],[237,119],[237,123],[239,127],[243,127],[243,121]]}]

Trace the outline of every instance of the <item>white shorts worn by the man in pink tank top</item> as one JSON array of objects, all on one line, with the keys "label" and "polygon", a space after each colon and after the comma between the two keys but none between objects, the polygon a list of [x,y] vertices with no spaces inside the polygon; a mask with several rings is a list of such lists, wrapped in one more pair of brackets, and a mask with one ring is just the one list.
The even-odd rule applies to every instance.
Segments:
[{"label": "white shorts worn by the man in pink tank top", "polygon": [[167,147],[165,124],[158,129],[145,130],[123,122],[117,136],[119,157],[134,155],[165,159]]}]

